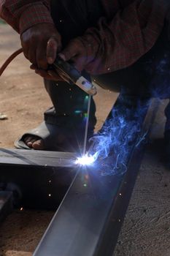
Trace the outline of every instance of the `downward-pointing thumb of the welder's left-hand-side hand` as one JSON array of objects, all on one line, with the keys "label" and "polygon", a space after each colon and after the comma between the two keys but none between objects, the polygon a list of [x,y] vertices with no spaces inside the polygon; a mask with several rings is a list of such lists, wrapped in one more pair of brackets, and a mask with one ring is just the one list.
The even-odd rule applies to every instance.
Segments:
[{"label": "downward-pointing thumb of the welder's left-hand-side hand", "polygon": [[58,42],[51,37],[47,42],[47,63],[53,64],[58,52]]}]

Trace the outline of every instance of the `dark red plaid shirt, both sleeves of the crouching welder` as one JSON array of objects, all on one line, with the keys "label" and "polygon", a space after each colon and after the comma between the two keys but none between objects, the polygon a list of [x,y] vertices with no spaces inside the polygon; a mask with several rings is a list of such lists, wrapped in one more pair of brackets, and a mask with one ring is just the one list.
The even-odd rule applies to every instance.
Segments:
[{"label": "dark red plaid shirt, both sleeves of the crouching welder", "polygon": [[[169,0],[101,0],[105,17],[82,36],[86,70],[103,74],[137,61],[155,44],[163,29]],[[39,23],[53,23],[50,0],[0,0],[0,16],[20,34]]]}]

